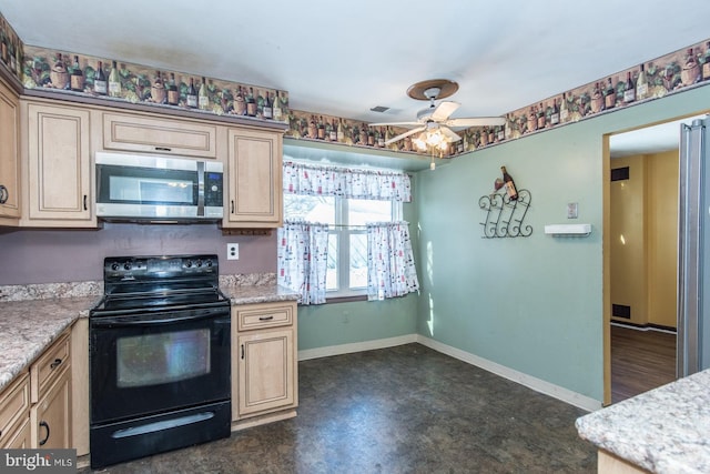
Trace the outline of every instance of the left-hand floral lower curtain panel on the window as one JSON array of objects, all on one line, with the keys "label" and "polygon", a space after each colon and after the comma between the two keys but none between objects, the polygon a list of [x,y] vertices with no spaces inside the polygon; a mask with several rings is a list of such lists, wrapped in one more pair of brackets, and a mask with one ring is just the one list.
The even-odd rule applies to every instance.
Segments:
[{"label": "left-hand floral lower curtain panel on the window", "polygon": [[277,283],[301,293],[301,304],[325,303],[328,225],[285,221],[278,229]]}]

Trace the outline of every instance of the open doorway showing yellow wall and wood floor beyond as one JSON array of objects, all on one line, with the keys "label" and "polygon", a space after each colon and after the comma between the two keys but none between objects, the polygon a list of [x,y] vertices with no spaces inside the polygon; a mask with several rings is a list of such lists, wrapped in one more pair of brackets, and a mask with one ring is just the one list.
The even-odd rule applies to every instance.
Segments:
[{"label": "open doorway showing yellow wall and wood floor beyond", "polygon": [[605,400],[676,380],[680,123],[605,135]]}]

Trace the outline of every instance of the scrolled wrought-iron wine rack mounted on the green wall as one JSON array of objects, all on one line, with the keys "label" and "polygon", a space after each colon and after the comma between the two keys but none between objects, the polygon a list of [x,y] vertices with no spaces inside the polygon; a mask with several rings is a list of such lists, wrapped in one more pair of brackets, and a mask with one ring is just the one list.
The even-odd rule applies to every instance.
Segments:
[{"label": "scrolled wrought-iron wine rack mounted on the green wall", "polygon": [[518,190],[517,200],[511,200],[505,188],[500,191],[478,200],[478,205],[486,212],[486,219],[480,223],[484,239],[530,236],[532,226],[523,222],[532,200],[530,191]]}]

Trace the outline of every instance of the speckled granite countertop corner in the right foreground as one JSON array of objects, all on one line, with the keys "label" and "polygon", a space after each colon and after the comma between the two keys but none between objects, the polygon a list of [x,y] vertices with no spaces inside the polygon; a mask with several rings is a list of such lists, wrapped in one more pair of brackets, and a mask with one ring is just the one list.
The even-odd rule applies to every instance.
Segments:
[{"label": "speckled granite countertop corner in the right foreground", "polygon": [[710,370],[577,418],[579,435],[655,473],[710,472]]}]

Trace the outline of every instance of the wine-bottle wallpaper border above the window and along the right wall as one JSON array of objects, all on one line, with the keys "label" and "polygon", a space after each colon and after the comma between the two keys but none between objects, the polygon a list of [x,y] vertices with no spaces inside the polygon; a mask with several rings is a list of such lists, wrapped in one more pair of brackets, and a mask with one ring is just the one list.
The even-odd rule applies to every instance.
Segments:
[{"label": "wine-bottle wallpaper border above the window and along the right wall", "polygon": [[[646,85],[639,87],[641,72]],[[632,88],[627,87],[629,81]],[[455,157],[709,84],[710,39],[508,112],[505,125],[457,131],[462,140],[447,154]],[[407,130],[373,129],[362,121],[301,111],[291,111],[288,124],[286,137],[363,148],[385,148],[384,141]],[[417,153],[406,139],[387,148]]]}]

